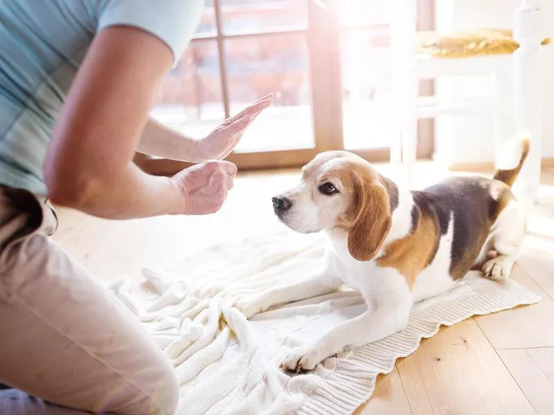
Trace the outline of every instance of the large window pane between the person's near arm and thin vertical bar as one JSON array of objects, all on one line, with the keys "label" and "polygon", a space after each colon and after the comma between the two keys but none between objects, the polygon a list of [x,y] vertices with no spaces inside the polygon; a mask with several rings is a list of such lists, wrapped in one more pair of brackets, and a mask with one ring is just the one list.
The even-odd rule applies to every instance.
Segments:
[{"label": "large window pane between the person's near arm and thin vertical bar", "polygon": [[217,44],[196,41],[161,85],[152,116],[190,136],[205,136],[225,118]]}]

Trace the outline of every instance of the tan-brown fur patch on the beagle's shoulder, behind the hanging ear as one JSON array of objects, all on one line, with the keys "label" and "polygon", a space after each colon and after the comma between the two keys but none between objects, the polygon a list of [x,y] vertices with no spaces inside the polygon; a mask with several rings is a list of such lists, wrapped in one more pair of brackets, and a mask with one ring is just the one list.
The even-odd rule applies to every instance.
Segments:
[{"label": "tan-brown fur patch on the beagle's shoulder, behind the hanging ear", "polygon": [[415,278],[433,261],[440,240],[440,226],[436,216],[414,206],[410,234],[388,243],[384,255],[375,263],[382,268],[395,268],[408,283],[410,289]]}]

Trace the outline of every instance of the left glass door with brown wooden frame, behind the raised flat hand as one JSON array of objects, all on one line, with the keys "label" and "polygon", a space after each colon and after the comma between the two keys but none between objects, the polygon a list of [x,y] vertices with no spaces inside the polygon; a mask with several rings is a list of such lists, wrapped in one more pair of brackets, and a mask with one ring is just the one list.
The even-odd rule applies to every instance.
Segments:
[{"label": "left glass door with brown wooden frame, behind the raised flat hand", "polygon": [[[205,136],[267,93],[229,160],[241,168],[282,167],[316,154],[306,0],[206,0],[202,21],[161,86],[152,116]],[[166,170],[182,167],[166,163]]]}]

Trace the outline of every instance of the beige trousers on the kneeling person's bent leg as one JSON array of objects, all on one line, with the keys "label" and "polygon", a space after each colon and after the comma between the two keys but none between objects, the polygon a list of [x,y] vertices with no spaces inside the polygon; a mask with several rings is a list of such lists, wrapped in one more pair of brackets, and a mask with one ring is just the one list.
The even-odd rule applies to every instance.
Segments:
[{"label": "beige trousers on the kneeling person's bent leg", "polygon": [[13,388],[0,414],[173,414],[170,361],[55,228],[47,201],[0,187],[0,383]]}]

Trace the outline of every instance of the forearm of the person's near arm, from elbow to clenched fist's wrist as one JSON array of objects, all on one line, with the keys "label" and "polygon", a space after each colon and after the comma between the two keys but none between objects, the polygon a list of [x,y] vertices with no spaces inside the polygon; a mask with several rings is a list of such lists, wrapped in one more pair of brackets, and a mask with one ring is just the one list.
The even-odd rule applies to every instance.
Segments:
[{"label": "forearm of the person's near arm, from elbow to clenched fist's wrist", "polygon": [[52,199],[53,203],[105,219],[174,214],[182,212],[186,203],[184,193],[171,178],[150,176],[133,163],[109,180],[84,181],[80,190],[62,190]]}]

